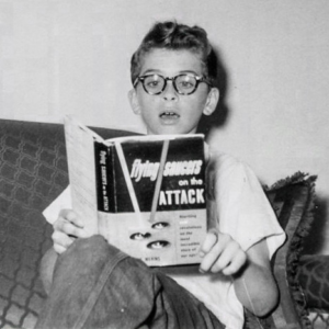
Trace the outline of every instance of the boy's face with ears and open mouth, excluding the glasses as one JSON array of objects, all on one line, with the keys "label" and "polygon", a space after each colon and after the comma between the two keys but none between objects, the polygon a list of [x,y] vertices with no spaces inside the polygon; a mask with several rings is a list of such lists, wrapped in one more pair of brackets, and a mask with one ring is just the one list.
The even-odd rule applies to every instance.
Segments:
[{"label": "boy's face with ears and open mouth, excluding the glasses", "polygon": [[[203,66],[198,56],[190,50],[152,49],[144,56],[139,76],[151,73],[169,78],[181,73],[202,77]],[[172,81],[167,81],[160,94],[148,94],[140,81],[129,92],[133,111],[141,115],[150,135],[195,133],[201,115],[213,113],[218,97],[218,90],[209,90],[204,82],[188,95],[179,94]]]}]

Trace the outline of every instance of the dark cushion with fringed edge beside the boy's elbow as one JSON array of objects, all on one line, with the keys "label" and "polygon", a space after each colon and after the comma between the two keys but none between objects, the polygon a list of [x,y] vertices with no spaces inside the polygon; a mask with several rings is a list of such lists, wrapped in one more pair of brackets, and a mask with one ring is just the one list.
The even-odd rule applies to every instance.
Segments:
[{"label": "dark cushion with fringed edge beside the boy's elbow", "polygon": [[280,290],[280,303],[266,318],[258,319],[246,311],[245,328],[306,329],[311,328],[302,286],[297,277],[303,240],[314,218],[315,177],[297,172],[281,180],[265,193],[287,239],[272,260]]}]

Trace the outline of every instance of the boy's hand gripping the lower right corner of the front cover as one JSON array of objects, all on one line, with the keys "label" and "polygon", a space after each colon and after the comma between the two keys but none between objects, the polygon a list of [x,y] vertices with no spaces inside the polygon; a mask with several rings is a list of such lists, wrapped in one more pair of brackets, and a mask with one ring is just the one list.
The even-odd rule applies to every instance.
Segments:
[{"label": "boy's hand gripping the lower right corner of the front cover", "polygon": [[201,247],[200,272],[236,274],[247,262],[247,254],[229,235],[211,229]]}]

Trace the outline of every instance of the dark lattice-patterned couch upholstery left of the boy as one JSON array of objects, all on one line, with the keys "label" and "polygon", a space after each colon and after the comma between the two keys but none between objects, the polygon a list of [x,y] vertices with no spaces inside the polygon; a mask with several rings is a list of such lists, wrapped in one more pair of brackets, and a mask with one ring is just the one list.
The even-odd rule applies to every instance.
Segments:
[{"label": "dark lattice-patterned couch upholstery left of the boy", "polygon": [[0,326],[32,328],[45,298],[38,279],[52,227],[42,211],[68,183],[63,131],[0,123]]}]

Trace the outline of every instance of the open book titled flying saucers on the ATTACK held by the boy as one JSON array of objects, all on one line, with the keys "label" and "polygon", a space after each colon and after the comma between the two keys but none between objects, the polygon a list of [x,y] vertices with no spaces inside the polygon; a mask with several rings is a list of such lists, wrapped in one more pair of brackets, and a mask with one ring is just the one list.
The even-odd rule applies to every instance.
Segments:
[{"label": "open book titled flying saucers on the ATTACK held by the boy", "polygon": [[149,266],[196,264],[205,239],[204,136],[104,140],[70,116],[65,136],[73,211],[88,234]]}]

